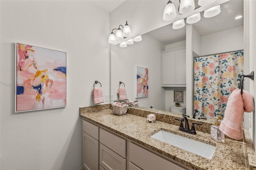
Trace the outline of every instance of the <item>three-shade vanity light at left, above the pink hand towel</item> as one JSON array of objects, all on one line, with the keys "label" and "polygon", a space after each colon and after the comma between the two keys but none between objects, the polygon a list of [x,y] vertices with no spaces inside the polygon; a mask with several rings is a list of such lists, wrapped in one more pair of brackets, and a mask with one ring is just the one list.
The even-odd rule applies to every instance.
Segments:
[{"label": "three-shade vanity light at left, above the pink hand towel", "polygon": [[[123,31],[121,30],[120,26],[123,27],[123,25],[119,25],[118,29],[114,28],[112,29],[112,32],[110,33],[109,37],[108,37],[108,43],[110,44],[114,44],[117,41],[122,41],[124,38],[129,37],[132,35],[132,31],[130,26],[128,25],[127,21],[126,24],[123,27]],[[114,30],[116,31],[116,35],[114,34]]]}]

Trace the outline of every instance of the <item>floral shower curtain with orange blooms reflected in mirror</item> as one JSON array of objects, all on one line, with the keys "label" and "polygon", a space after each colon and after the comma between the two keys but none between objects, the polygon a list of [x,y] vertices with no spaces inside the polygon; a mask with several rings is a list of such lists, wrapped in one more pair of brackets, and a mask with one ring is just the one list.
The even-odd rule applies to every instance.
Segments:
[{"label": "floral shower curtain with orange blooms reflected in mirror", "polygon": [[[194,109],[197,116],[224,115],[230,93],[238,87],[244,51],[194,58]],[[216,116],[217,114],[217,116]]]}]

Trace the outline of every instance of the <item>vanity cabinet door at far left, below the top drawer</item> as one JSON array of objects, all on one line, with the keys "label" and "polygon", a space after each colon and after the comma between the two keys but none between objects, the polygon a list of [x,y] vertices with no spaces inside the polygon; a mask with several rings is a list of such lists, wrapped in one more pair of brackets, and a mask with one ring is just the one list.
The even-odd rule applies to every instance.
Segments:
[{"label": "vanity cabinet door at far left, below the top drawer", "polygon": [[83,132],[82,166],[86,170],[99,169],[99,141]]}]

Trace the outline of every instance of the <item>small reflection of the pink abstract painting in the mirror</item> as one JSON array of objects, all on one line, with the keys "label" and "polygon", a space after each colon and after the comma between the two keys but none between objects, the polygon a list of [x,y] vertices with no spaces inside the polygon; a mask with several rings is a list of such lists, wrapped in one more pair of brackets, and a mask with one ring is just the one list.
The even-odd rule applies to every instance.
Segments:
[{"label": "small reflection of the pink abstract painting in the mirror", "polygon": [[148,97],[148,68],[136,66],[136,98]]}]

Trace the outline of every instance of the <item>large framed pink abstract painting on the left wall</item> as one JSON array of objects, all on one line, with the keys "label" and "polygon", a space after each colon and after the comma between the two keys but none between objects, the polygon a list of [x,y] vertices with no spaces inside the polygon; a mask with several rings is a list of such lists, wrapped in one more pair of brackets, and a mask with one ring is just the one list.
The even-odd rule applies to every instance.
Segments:
[{"label": "large framed pink abstract painting on the left wall", "polygon": [[15,112],[66,106],[66,53],[16,43]]}]

